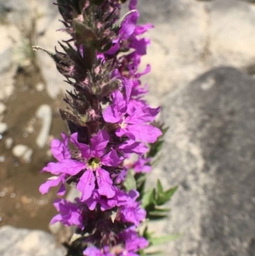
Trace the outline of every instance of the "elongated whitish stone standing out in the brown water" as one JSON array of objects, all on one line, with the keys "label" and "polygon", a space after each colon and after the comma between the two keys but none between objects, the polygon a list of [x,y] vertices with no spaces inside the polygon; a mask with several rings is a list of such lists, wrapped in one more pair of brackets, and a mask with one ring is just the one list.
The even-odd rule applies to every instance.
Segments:
[{"label": "elongated whitish stone standing out in the brown water", "polygon": [[42,128],[36,139],[37,146],[42,148],[48,140],[48,134],[52,122],[52,111],[50,105],[39,106],[36,116],[42,120]]}]

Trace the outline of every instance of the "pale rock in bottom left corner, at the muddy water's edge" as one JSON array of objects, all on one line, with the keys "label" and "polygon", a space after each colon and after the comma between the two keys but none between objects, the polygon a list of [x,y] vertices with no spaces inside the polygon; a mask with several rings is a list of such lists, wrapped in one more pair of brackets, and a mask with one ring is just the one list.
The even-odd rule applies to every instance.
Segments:
[{"label": "pale rock in bottom left corner, at the muddy water's edge", "polygon": [[54,237],[41,230],[16,229],[6,225],[0,228],[1,256],[63,256]]}]

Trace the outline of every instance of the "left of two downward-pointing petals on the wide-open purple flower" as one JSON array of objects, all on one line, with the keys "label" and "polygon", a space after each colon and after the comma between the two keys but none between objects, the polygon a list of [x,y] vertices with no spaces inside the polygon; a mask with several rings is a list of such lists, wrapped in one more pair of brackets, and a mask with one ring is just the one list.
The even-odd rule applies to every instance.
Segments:
[{"label": "left of two downward-pointing petals on the wide-open purple flower", "polygon": [[87,200],[94,190],[94,173],[91,170],[87,170],[80,178],[77,184],[77,190],[82,192],[81,200]]}]

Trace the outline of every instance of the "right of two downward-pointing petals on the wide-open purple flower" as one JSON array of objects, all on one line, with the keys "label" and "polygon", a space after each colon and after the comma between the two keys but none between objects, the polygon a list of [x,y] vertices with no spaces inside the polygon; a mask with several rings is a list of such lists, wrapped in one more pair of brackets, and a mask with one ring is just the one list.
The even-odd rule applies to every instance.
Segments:
[{"label": "right of two downward-pointing petals on the wide-open purple flower", "polygon": [[115,195],[116,191],[112,186],[112,180],[110,174],[106,172],[104,169],[99,168],[96,171],[97,173],[97,181],[99,185],[99,194],[101,196],[106,196],[111,198]]}]

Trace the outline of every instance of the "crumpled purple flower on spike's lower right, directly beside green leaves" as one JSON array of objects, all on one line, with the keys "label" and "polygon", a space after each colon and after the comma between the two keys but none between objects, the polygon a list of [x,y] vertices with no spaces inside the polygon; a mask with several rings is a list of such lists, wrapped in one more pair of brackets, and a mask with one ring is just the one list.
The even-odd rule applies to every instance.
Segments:
[{"label": "crumpled purple flower on spike's lower right, directly beside green leaves", "polygon": [[146,211],[140,208],[140,203],[136,202],[139,197],[138,191],[129,191],[127,203],[121,207],[121,216],[123,221],[131,222],[138,226],[145,219]]}]

